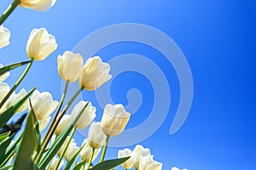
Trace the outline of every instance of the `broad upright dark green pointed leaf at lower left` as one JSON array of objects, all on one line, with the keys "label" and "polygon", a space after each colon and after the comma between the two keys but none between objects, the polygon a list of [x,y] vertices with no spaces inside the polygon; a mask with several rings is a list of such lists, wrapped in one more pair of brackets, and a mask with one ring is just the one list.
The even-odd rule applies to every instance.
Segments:
[{"label": "broad upright dark green pointed leaf at lower left", "polygon": [[17,156],[15,159],[14,170],[27,169],[35,170],[38,169],[32,161],[32,154],[37,147],[37,137],[35,133],[36,120],[33,115],[33,111],[29,112],[26,119],[26,127],[24,130],[23,139],[20,142]]}]

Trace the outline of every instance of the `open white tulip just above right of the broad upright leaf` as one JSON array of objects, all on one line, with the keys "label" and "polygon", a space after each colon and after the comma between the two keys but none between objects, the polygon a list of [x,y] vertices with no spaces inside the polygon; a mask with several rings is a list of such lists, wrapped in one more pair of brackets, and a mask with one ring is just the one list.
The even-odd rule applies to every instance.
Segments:
[{"label": "open white tulip just above right of the broad upright leaf", "polygon": [[52,99],[52,95],[49,92],[40,94],[38,90],[35,90],[32,94],[31,103],[38,120],[44,120],[44,118],[49,117],[59,104],[58,101]]}]

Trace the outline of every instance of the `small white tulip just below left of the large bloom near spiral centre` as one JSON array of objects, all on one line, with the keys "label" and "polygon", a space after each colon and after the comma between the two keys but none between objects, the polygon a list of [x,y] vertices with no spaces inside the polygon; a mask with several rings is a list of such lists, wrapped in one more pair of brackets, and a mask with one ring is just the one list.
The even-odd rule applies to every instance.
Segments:
[{"label": "small white tulip just below left of the large bloom near spiral centre", "polygon": [[102,132],[101,122],[92,122],[88,133],[90,147],[100,149],[106,140],[106,135]]}]

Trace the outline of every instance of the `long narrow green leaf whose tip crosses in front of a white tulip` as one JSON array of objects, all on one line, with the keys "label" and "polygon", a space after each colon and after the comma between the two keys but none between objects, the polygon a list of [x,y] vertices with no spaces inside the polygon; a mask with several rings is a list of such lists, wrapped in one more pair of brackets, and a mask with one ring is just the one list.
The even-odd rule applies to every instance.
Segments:
[{"label": "long narrow green leaf whose tip crosses in front of a white tulip", "polygon": [[67,139],[68,134],[73,129],[73,124],[78,122],[79,117],[82,115],[82,113],[84,112],[84,110],[85,110],[85,108],[87,107],[88,104],[89,104],[89,102],[79,112],[78,117],[76,117],[76,119],[73,121],[73,123],[69,124],[63,130],[63,132],[57,137],[57,139],[55,139],[55,142],[51,145],[51,147],[49,148],[49,151],[45,154],[42,161],[39,162],[39,164],[38,164],[38,169],[39,170],[44,170],[45,167],[48,165],[49,161],[51,161],[51,159],[55,156],[57,151],[61,148],[61,145],[64,143],[64,141]]}]

